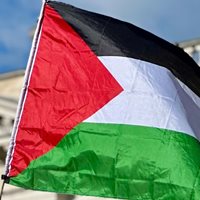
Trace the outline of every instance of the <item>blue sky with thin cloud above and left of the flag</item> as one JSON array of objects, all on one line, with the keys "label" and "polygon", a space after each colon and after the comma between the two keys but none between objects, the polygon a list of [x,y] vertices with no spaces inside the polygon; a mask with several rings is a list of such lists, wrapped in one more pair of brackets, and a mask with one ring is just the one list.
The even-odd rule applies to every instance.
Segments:
[{"label": "blue sky with thin cloud above and left of the flag", "polygon": [[[144,28],[170,42],[200,38],[200,1],[63,0]],[[0,73],[26,67],[41,0],[1,0]]]}]

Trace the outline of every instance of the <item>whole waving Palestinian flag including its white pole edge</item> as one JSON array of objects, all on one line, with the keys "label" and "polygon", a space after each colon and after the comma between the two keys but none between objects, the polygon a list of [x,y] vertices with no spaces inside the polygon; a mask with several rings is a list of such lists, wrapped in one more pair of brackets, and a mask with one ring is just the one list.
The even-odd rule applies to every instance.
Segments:
[{"label": "whole waving Palestinian flag including its white pole edge", "polygon": [[26,189],[200,199],[200,68],[132,24],[49,1],[4,178]]}]

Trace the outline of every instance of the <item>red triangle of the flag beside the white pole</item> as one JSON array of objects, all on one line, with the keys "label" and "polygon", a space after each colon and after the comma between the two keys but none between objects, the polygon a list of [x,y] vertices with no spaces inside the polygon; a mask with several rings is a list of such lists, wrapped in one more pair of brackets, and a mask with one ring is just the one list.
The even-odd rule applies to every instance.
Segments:
[{"label": "red triangle of the flag beside the white pole", "polygon": [[18,125],[9,175],[47,153],[123,89],[82,38],[50,6]]}]

